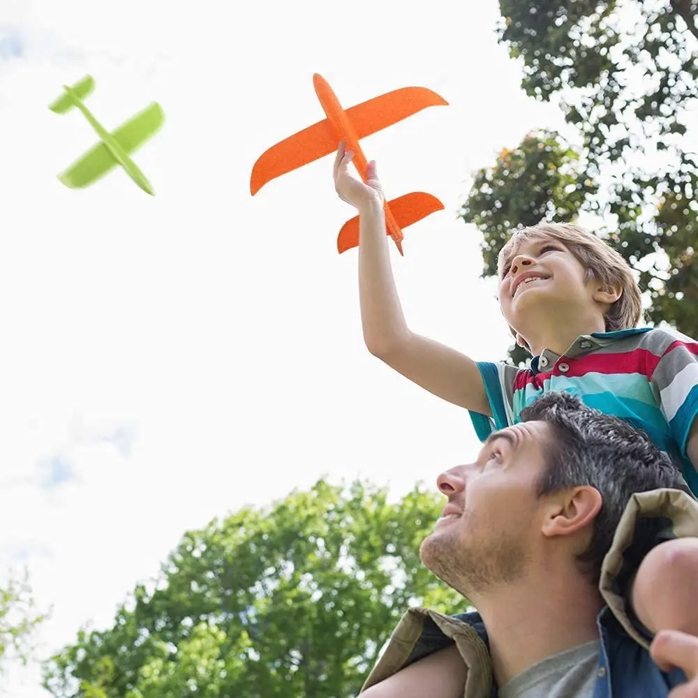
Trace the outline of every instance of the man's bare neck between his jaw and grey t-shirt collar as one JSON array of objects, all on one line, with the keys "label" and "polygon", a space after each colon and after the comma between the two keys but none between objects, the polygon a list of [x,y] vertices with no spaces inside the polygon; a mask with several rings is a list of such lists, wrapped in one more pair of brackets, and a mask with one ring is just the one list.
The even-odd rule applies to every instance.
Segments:
[{"label": "man's bare neck between his jaw and grey t-shirt collar", "polygon": [[596,616],[604,602],[574,570],[549,570],[473,598],[482,616],[494,676],[503,686],[533,664],[599,638]]}]

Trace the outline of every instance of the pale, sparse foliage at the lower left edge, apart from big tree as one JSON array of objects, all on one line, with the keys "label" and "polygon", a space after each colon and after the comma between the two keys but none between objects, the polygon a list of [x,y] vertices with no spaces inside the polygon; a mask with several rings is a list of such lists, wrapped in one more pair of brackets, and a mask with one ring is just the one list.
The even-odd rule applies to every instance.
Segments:
[{"label": "pale, sparse foliage at the lower left edge, apart from big tree", "polygon": [[27,664],[34,652],[34,633],[46,617],[36,611],[27,572],[20,579],[10,571],[0,588],[0,676],[10,661]]}]

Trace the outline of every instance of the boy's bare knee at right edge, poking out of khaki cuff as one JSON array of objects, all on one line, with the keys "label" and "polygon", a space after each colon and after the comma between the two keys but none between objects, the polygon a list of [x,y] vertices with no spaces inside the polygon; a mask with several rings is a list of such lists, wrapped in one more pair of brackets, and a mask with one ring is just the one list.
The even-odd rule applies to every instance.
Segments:
[{"label": "boy's bare knee at right edge, poking out of khaki cuff", "polygon": [[698,634],[698,537],[660,543],[642,560],[632,588],[639,621],[656,633]]}]

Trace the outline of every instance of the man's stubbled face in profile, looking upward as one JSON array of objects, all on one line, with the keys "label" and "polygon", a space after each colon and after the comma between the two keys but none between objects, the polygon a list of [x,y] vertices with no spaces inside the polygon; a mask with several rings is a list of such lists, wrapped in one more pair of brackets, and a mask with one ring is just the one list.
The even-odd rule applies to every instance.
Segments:
[{"label": "man's stubbled face in profile, looking upward", "polygon": [[516,424],[493,434],[475,463],[438,477],[448,503],[419,554],[426,567],[464,596],[523,574],[540,535],[536,486],[550,441],[545,422]]}]

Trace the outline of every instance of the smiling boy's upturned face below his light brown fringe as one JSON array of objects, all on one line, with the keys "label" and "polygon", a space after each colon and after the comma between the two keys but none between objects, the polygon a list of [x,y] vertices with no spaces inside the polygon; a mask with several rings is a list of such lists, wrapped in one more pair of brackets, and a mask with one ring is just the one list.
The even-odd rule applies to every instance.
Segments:
[{"label": "smiling boy's upturned face below his light brown fringe", "polygon": [[560,320],[586,317],[595,307],[598,282],[562,242],[550,237],[523,240],[500,270],[499,304],[511,327],[528,339]]}]

